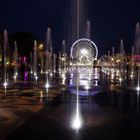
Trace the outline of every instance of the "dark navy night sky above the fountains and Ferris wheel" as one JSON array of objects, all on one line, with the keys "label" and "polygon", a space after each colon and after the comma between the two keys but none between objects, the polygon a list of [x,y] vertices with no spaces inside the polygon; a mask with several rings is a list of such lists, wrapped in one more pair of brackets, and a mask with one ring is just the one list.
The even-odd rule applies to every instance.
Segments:
[{"label": "dark navy night sky above the fountains and Ferris wheel", "polygon": [[[47,27],[52,28],[52,43],[58,50],[66,39],[68,12],[72,0],[1,0],[0,31],[31,32],[45,40]],[[120,39],[125,49],[133,45],[135,25],[140,21],[139,0],[85,0],[87,19],[91,21],[91,39],[106,53]],[[72,11],[72,7],[71,7]],[[83,10],[84,11],[84,10]]]}]

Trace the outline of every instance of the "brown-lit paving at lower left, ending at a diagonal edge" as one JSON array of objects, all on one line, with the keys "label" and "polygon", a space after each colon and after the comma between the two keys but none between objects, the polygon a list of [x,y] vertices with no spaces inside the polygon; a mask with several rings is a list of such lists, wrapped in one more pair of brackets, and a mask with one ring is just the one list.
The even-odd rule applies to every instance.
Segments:
[{"label": "brown-lit paving at lower left, ending at a diagonal edge", "polygon": [[0,89],[0,140],[40,111],[44,106],[43,100],[53,99],[62,91],[61,86],[52,87],[46,96],[44,89],[36,87],[10,88],[6,93]]}]

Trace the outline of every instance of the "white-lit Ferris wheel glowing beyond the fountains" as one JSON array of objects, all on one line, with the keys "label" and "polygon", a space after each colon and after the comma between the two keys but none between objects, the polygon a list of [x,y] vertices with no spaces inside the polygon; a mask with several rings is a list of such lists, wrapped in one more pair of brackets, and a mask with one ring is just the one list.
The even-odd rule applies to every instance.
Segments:
[{"label": "white-lit Ferris wheel glowing beyond the fountains", "polygon": [[71,47],[71,58],[75,60],[76,63],[90,65],[97,59],[97,56],[97,46],[90,39],[78,39]]}]

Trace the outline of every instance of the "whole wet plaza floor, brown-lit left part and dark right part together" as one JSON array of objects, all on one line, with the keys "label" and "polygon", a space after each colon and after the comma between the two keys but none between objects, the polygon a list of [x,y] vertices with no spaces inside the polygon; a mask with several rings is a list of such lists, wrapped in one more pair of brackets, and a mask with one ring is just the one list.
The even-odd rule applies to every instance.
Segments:
[{"label": "whole wet plaza floor, brown-lit left part and dark right part together", "polygon": [[[79,85],[82,126],[77,130],[72,128],[77,85],[69,74],[66,74],[65,85],[51,87],[47,94],[33,85],[7,89],[7,95],[1,93],[0,98],[1,139],[140,138],[139,94],[131,88],[134,81],[120,83],[100,70],[98,76],[90,81],[89,89]],[[87,81],[86,75],[81,80]]]}]

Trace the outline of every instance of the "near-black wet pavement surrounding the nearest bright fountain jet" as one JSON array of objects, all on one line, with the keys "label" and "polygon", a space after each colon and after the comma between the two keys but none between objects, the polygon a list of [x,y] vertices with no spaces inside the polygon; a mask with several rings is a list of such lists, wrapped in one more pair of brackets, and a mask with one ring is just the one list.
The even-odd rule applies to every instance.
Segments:
[{"label": "near-black wet pavement surrounding the nearest bright fountain jet", "polygon": [[89,97],[86,101],[80,99],[83,126],[78,131],[71,127],[75,96],[61,94],[52,102],[46,103],[46,107],[7,139],[139,139],[140,114],[111,107],[104,101],[104,94],[106,93],[102,93],[100,97]]}]

